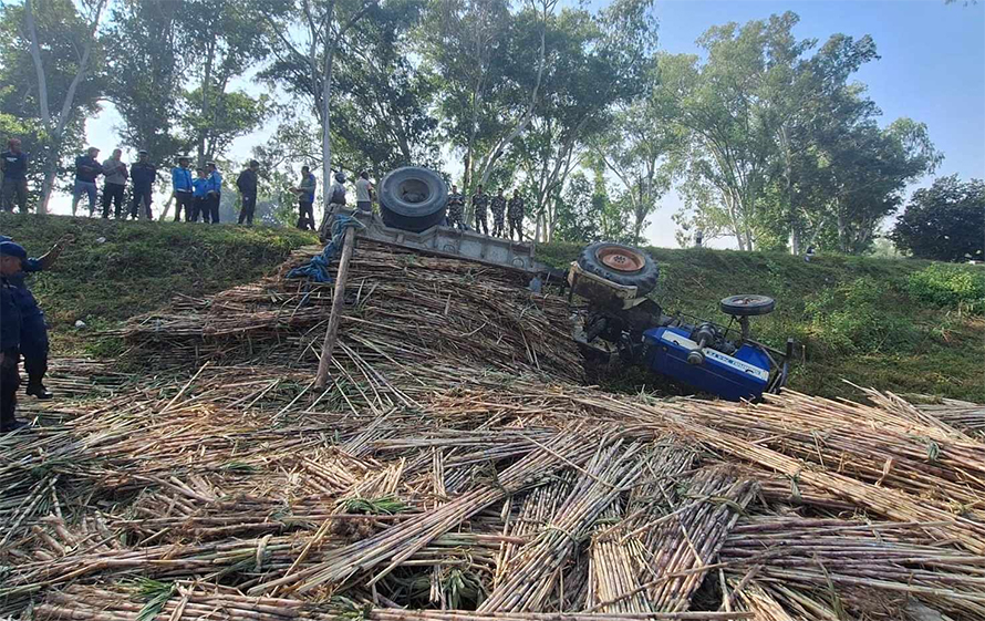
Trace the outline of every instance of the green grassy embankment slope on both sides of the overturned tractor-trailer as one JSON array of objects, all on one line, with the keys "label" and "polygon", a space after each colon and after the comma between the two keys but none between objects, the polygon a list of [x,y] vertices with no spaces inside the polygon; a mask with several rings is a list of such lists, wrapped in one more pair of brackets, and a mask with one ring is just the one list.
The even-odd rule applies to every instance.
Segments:
[{"label": "green grassy embankment slope on both sides of the overturned tractor-trailer", "polygon": [[[112,353],[84,339],[76,319],[100,329],[159,308],[176,294],[208,294],[276,268],[313,235],[290,229],[207,227],[173,222],[114,222],[58,216],[0,214],[0,232],[42,255],[63,234],[76,242],[31,287],[48,312],[55,351]],[[105,238],[104,242],[97,242]],[[580,247],[538,247],[561,267]],[[894,392],[985,402],[985,320],[912,294],[911,275],[930,261],[821,256],[811,263],[782,253],[651,248],[661,265],[655,293],[666,311],[725,319],[719,299],[743,292],[777,299],[777,310],[754,320],[756,335],[778,349],[797,340],[801,360],[794,389],[825,396],[858,396],[841,380]],[[968,268],[985,278],[985,270]],[[645,382],[645,375],[628,382]]]}]

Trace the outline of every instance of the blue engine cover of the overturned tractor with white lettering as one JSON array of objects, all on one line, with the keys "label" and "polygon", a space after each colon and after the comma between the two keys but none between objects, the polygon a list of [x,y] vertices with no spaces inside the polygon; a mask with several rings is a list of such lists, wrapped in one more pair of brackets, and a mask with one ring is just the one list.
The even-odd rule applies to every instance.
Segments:
[{"label": "blue engine cover of the overturned tractor with white lettering", "polygon": [[733,355],[704,348],[704,362],[687,362],[697,349],[688,330],[670,327],[643,332],[646,366],[703,392],[728,401],[758,399],[769,383],[769,358],[759,349],[743,344]]}]

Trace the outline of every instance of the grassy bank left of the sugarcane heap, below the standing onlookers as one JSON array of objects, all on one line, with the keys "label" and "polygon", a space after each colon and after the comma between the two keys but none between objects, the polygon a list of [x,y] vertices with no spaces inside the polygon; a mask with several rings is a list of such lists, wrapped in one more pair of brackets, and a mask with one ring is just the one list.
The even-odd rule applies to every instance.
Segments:
[{"label": "grassy bank left of the sugarcane heap, below the standing onlookers", "polygon": [[62,235],[75,236],[51,271],[30,278],[52,328],[52,346],[61,354],[112,355],[117,349],[85,339],[76,320],[91,333],[160,308],[176,293],[216,293],[255,280],[292,249],[318,242],[292,229],[10,214],[0,214],[0,232],[32,257]]}]

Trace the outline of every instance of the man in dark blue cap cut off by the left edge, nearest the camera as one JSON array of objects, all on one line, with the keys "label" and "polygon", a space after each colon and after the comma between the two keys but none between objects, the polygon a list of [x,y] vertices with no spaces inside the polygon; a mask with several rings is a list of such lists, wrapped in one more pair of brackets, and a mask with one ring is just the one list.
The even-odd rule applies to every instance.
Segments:
[{"label": "man in dark blue cap cut off by the left edge, nearest the camera", "polygon": [[22,427],[14,418],[17,389],[20,374],[21,314],[14,301],[13,286],[9,278],[21,271],[21,262],[28,253],[12,241],[0,242],[0,433]]}]

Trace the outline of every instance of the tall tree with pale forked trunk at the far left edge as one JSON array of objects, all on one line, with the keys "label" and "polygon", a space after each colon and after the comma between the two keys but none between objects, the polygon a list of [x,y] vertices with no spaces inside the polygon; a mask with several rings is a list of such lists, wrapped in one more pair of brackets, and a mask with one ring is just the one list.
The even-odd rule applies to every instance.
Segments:
[{"label": "tall tree with pale forked trunk at the far left edge", "polygon": [[39,213],[48,210],[61,159],[98,105],[97,29],[105,6],[106,0],[25,0],[2,9],[0,75],[6,84],[24,86],[20,103],[4,105],[4,112],[37,120],[38,133],[29,142],[40,148],[32,154],[41,163]]}]

